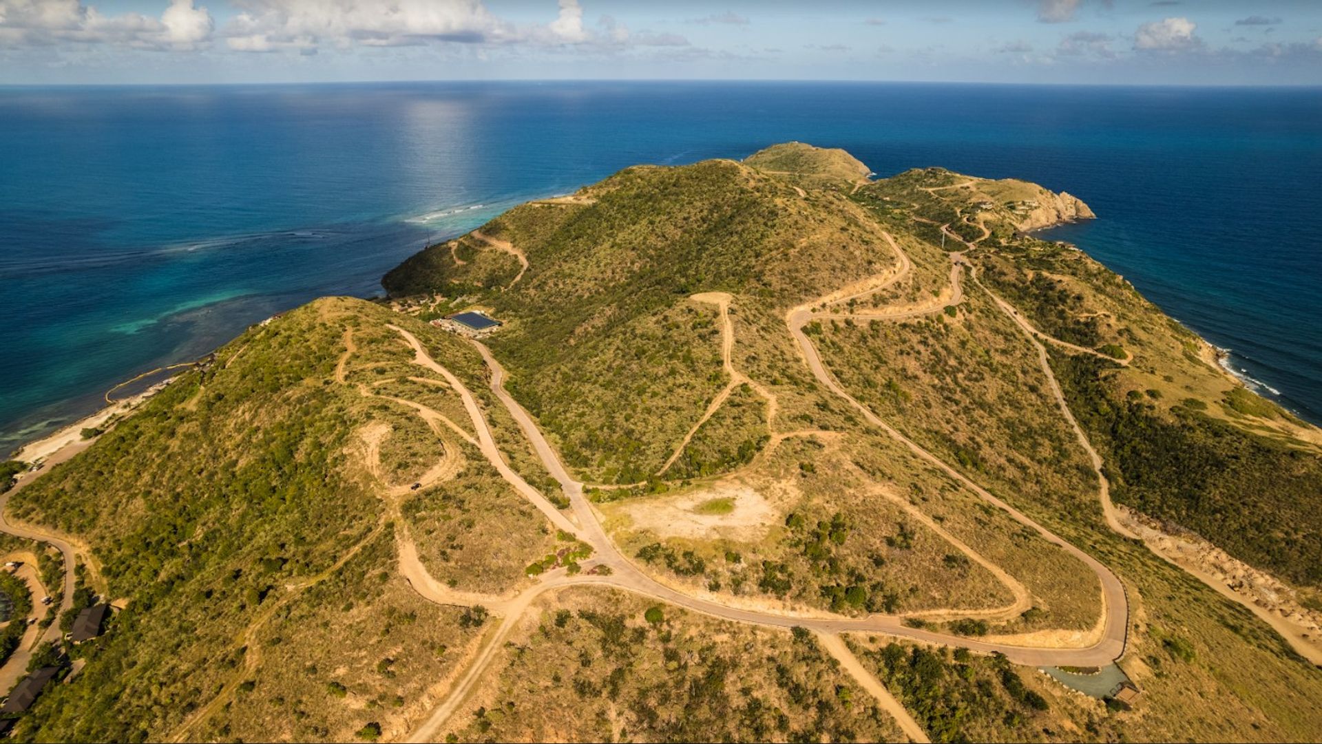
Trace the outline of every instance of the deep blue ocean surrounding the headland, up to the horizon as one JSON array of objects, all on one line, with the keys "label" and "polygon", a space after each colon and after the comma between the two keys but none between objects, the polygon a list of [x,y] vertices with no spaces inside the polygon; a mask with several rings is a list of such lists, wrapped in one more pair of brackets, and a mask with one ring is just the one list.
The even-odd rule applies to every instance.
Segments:
[{"label": "deep blue ocean surrounding the headland, up to the horizon", "polygon": [[0,449],[427,241],[636,163],[842,147],[1068,190],[1077,243],[1322,422],[1322,89],[0,89]]}]

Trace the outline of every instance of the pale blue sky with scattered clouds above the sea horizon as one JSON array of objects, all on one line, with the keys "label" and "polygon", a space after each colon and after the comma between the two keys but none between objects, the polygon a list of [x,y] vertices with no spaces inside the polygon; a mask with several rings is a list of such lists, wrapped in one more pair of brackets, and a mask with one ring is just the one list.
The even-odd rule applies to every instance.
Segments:
[{"label": "pale blue sky with scattered clouds above the sea horizon", "polygon": [[1322,0],[0,0],[0,85],[1322,85]]}]

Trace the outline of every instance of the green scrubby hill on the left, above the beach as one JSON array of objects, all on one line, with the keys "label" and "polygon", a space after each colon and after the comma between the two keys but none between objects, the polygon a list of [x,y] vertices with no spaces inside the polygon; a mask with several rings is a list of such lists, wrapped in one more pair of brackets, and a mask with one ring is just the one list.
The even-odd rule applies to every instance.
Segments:
[{"label": "green scrubby hill on the left, above the beach", "polygon": [[[104,577],[97,589],[127,603],[110,636],[75,651],[87,659],[78,683],[48,692],[22,719],[22,736],[159,740],[219,692],[233,712],[198,722],[190,737],[344,739],[368,714],[345,710],[327,692],[333,685],[352,699],[419,704],[480,629],[399,577],[399,515],[374,493],[357,452],[373,426],[431,435],[416,452],[382,448],[382,465],[407,474],[455,444],[414,431],[408,408],[358,389],[419,374],[403,367],[386,322],[431,330],[349,299],[254,328],[11,502],[12,517],[85,537]],[[341,383],[348,332],[357,352]],[[471,348],[434,330],[427,338],[480,385]],[[480,537],[486,548],[451,551],[434,567],[496,574],[508,587],[553,540],[541,515],[469,463],[467,482],[419,490],[415,501],[426,510],[463,498],[483,523],[459,539]],[[498,534],[483,533],[497,525]],[[412,533],[430,552],[431,538]],[[509,552],[493,555],[497,546]],[[389,678],[375,671],[382,658],[398,659]]]}]

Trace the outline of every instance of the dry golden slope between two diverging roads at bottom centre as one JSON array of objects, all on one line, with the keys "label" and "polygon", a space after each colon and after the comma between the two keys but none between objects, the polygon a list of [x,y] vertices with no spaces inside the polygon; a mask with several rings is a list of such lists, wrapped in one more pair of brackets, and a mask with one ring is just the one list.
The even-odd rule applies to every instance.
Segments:
[{"label": "dry golden slope between two diverging roads at bottom centre", "polygon": [[498,663],[438,740],[903,740],[810,634],[615,591],[538,600]]}]

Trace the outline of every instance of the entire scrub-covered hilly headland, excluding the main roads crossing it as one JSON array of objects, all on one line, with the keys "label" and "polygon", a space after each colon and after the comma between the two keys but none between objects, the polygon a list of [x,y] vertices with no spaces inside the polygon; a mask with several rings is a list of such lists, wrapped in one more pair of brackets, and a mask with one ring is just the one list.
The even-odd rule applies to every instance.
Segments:
[{"label": "entire scrub-covered hilly headland, excluding the main roads crossing it", "polygon": [[[489,655],[435,740],[902,739],[802,629],[586,584],[497,633],[510,597],[592,556],[479,349],[424,322],[484,308],[504,322],[485,344],[506,389],[668,587],[1085,645],[1096,574],[960,478],[1118,575],[1133,708],[1003,657],[849,634],[932,740],[1322,736],[1322,671],[1113,531],[1080,443],[1134,519],[1319,611],[1319,432],[1105,267],[1030,234],[1092,217],[1080,200],[869,173],[798,143],[628,168],[428,247],[386,275],[389,301],[321,299],[235,338],[9,502],[85,540],[81,581],[124,605],[17,735],[405,739]],[[791,333],[802,312],[832,378],[914,448],[814,377]]]}]

